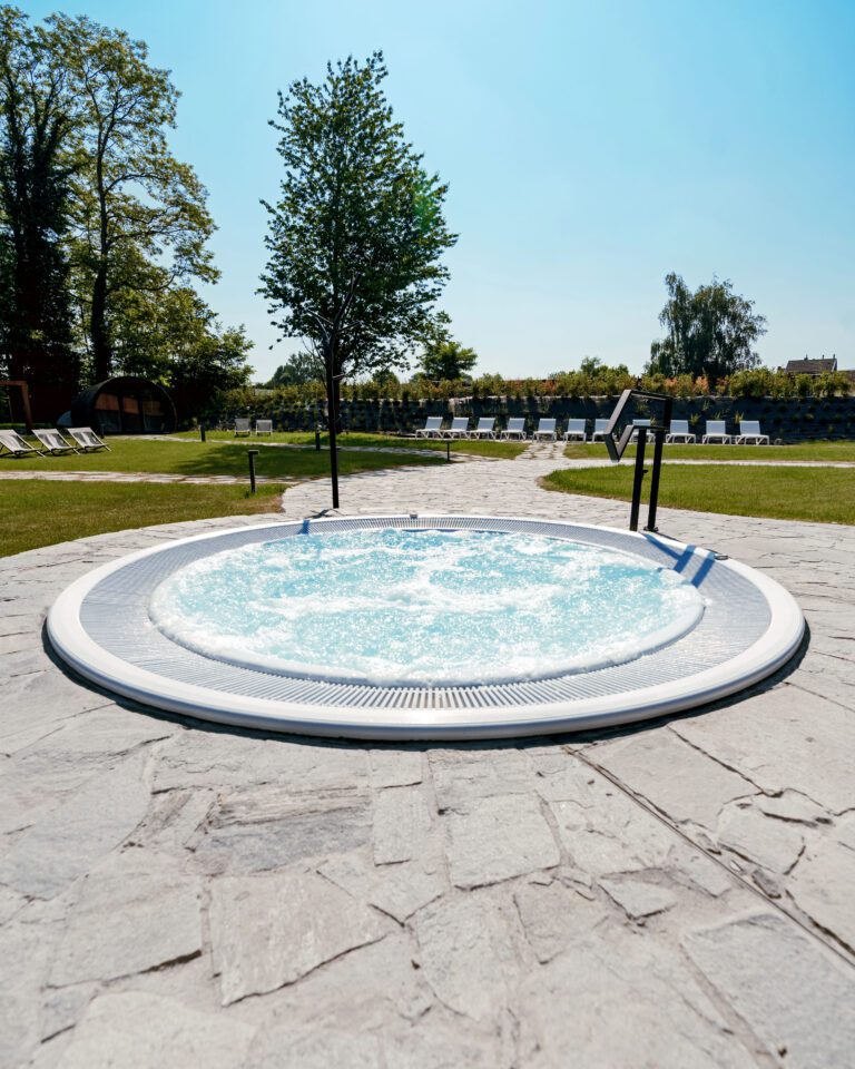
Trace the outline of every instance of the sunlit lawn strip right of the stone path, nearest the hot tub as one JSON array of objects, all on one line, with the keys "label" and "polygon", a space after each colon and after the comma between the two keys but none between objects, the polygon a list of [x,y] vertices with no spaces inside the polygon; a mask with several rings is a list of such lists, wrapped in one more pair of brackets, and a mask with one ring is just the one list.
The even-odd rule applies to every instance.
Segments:
[{"label": "sunlit lawn strip right of the stone path, nearest the hot tub", "polygon": [[[548,490],[597,498],[632,497],[632,467],[553,471]],[[645,478],[643,500],[650,486]],[[768,516],[783,520],[855,523],[855,468],[721,468],[712,464],[662,470],[659,503],[672,509]]]}]

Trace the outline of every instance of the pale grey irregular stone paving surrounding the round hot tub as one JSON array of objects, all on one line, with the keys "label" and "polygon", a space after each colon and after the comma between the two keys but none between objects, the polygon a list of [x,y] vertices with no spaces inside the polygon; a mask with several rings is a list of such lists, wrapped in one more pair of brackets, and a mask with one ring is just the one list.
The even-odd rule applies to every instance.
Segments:
[{"label": "pale grey irregular stone paving surrounding the round hot tub", "polygon": [[[625,527],[625,503],[539,487],[561,462],[365,472],[343,510]],[[327,503],[302,483],[278,518]],[[0,1065],[853,1065],[855,528],[661,510],[784,582],[809,644],[745,696],[611,733],[274,737],[52,659],[77,576],[267,519],[0,560]]]}]

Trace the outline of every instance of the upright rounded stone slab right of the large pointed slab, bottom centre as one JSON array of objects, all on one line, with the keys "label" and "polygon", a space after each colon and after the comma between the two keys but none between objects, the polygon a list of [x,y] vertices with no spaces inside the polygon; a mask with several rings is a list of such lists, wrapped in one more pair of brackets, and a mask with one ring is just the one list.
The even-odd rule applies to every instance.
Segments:
[{"label": "upright rounded stone slab right of the large pointed slab, bottom centre", "polygon": [[495,1022],[520,972],[508,918],[490,898],[442,899],[415,919],[419,961],[436,998],[458,1013]]}]

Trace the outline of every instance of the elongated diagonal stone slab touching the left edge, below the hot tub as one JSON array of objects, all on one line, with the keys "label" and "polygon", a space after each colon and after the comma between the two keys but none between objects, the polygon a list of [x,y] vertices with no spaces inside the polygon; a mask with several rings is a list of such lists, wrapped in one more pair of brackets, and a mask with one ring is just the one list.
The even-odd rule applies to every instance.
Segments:
[{"label": "elongated diagonal stone slab touching the left edge, below the hot tub", "polygon": [[132,755],[23,832],[0,859],[0,883],[35,898],[49,899],[83,875],[119,845],[142,820],[148,787],[145,757]]}]

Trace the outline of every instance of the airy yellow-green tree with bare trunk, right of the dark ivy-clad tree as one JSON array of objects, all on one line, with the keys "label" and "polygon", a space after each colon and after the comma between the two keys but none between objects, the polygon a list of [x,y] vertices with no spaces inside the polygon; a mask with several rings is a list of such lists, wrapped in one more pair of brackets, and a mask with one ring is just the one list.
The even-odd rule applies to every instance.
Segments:
[{"label": "airy yellow-green tree with bare trunk, right of the dark ivy-clad tree", "polygon": [[47,21],[81,109],[75,261],[100,380],[112,370],[122,293],[216,279],[205,247],[214,224],[205,188],[169,150],[178,92],[146,45],[85,16]]}]

